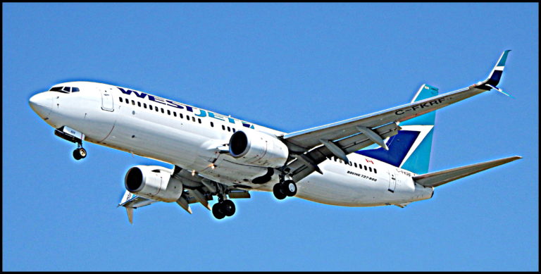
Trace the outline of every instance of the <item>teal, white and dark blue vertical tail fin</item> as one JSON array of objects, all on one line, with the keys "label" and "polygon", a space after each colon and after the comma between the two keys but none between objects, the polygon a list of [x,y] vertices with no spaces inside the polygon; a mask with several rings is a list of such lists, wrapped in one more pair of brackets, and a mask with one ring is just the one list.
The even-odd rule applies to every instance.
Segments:
[{"label": "teal, white and dark blue vertical tail fin", "polygon": [[[436,87],[422,85],[411,102],[421,101],[437,94]],[[433,111],[400,123],[402,130],[387,141],[388,151],[380,147],[356,153],[410,170],[413,173],[427,173],[435,118],[436,113]]]}]

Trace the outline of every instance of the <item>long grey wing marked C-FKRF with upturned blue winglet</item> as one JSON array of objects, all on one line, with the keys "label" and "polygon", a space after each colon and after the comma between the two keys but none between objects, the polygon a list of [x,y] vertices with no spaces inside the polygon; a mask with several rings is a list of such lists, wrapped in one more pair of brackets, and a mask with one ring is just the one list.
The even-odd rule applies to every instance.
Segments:
[{"label": "long grey wing marked C-FKRF with upturned blue winglet", "polygon": [[282,139],[292,156],[287,163],[292,180],[298,182],[313,171],[321,173],[317,165],[332,156],[348,163],[347,154],[371,144],[379,144],[380,147],[387,149],[383,140],[398,133],[399,122],[444,108],[490,89],[502,92],[496,86],[502,77],[507,54],[509,50],[504,51],[500,56],[486,80],[464,89],[283,135]]}]

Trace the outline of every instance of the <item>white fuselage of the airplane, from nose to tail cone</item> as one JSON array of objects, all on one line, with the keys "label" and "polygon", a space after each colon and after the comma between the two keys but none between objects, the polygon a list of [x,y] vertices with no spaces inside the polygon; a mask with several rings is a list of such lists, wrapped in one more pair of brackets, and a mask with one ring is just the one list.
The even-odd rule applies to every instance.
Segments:
[{"label": "white fuselage of the airplane, from nose to tail cone", "polygon": [[[284,132],[124,87],[97,82],[56,86],[80,91],[42,92],[32,97],[34,103],[31,99],[32,108],[54,128],[71,127],[84,133],[87,142],[172,163],[224,185],[272,191],[278,183],[278,172],[269,182],[252,183],[267,168],[239,163],[219,148],[238,130]],[[295,196],[339,206],[405,204],[432,197],[433,188],[415,184],[407,170],[359,154],[348,158],[350,164],[334,157],[319,164],[323,175],[312,173],[297,182]]]}]

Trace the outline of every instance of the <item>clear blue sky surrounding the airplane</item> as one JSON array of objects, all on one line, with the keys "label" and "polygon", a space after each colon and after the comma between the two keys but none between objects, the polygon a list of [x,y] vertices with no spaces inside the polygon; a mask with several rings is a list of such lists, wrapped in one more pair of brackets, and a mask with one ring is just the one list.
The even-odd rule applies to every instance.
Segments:
[{"label": "clear blue sky surrounding the airplane", "polygon": [[[3,270],[538,270],[538,4],[3,4]],[[292,132],[405,104],[423,83],[500,87],[437,112],[430,171],[523,159],[406,208],[270,192],[116,208],[135,165],[53,134],[28,106],[58,82],[142,90]]]}]

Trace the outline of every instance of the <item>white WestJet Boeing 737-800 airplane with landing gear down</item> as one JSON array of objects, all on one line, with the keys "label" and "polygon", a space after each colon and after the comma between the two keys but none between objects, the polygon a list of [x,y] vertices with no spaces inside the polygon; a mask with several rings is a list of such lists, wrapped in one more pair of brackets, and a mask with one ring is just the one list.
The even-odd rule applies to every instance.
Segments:
[{"label": "white WestJet Boeing 737-800 airplane with landing gear down", "polygon": [[158,201],[190,214],[190,204],[199,203],[222,219],[235,213],[232,199],[250,198],[250,191],[404,208],[432,198],[435,187],[522,158],[428,172],[435,111],[492,89],[506,94],[497,85],[508,54],[486,80],[464,89],[439,94],[422,85],[409,104],[289,133],[99,82],[54,85],[32,96],[30,107],[56,136],[77,144],[75,160],[87,156],[85,141],[173,165],[126,172],[118,206],[130,223],[134,208]]}]

